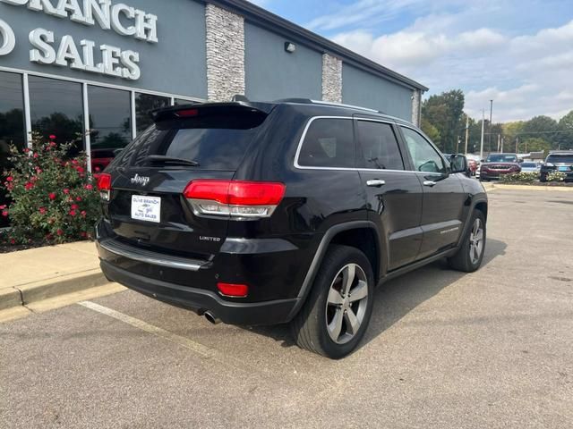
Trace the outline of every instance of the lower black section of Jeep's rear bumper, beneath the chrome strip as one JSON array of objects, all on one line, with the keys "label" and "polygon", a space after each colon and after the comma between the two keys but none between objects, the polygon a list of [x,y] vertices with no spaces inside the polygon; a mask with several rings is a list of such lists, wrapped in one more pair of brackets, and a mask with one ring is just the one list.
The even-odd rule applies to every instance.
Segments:
[{"label": "lower black section of Jeep's rear bumper, beneath the chrome strip", "polygon": [[153,299],[184,307],[198,315],[210,311],[226,324],[283,324],[292,317],[298,299],[239,303],[219,298],[210,290],[189,288],[150,279],[100,261],[101,270],[111,282],[118,282]]}]

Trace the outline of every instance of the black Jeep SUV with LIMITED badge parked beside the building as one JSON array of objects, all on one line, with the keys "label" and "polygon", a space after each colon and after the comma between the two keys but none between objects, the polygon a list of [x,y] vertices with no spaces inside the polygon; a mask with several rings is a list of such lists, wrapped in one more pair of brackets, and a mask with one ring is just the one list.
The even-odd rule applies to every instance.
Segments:
[{"label": "black Jeep SUV with LIMITED badge parked beside the building", "polygon": [[482,263],[487,196],[411,123],[311,100],[179,105],[98,177],[107,279],[344,357],[376,285]]}]

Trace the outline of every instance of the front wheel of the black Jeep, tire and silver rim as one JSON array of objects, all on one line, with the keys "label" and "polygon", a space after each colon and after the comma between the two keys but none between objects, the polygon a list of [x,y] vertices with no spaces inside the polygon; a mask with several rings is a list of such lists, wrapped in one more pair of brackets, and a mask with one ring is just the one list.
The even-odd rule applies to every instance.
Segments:
[{"label": "front wheel of the black Jeep, tire and silver rim", "polygon": [[[482,231],[481,239],[478,234],[480,228]],[[478,234],[477,237],[475,234]],[[483,253],[485,253],[485,240],[485,218],[480,210],[475,210],[474,214],[472,214],[469,228],[466,231],[466,237],[464,237],[458,248],[458,253],[448,259],[449,266],[458,271],[474,273],[482,265]]]}]

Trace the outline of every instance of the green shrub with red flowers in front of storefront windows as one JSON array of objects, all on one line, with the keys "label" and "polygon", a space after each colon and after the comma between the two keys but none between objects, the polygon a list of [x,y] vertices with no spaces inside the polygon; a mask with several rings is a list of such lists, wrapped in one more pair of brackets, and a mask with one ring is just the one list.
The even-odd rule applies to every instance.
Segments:
[{"label": "green shrub with red flowers in front of storefront windows", "polygon": [[91,237],[100,209],[86,157],[68,156],[72,144],[58,145],[55,139],[34,135],[32,150],[10,148],[13,169],[4,172],[3,185],[12,203],[0,206],[0,215],[12,228],[0,241],[52,244]]}]

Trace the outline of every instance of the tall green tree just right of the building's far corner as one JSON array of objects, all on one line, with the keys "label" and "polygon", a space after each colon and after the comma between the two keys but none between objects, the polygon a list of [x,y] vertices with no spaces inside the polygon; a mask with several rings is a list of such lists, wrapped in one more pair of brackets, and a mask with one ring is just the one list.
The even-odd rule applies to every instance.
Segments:
[{"label": "tall green tree just right of the building's far corner", "polygon": [[453,89],[423,102],[422,117],[440,133],[438,146],[444,152],[455,151],[458,138],[463,139],[466,128],[464,101],[462,90]]}]

